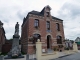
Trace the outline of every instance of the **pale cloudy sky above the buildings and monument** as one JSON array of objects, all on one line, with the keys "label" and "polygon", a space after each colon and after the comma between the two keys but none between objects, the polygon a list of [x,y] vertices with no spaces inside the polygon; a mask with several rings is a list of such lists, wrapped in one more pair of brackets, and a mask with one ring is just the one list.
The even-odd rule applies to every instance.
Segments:
[{"label": "pale cloudy sky above the buildings and monument", "polygon": [[15,24],[21,25],[27,13],[41,11],[46,5],[51,7],[51,15],[63,20],[65,39],[80,37],[80,0],[0,0],[0,20],[7,39],[12,38]]}]

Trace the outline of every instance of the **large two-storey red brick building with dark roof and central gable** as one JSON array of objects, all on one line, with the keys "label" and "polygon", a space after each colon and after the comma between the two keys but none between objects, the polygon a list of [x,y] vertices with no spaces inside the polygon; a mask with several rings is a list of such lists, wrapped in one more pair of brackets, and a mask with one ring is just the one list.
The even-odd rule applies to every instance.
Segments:
[{"label": "large two-storey red brick building with dark roof and central gable", "polygon": [[64,50],[63,20],[51,16],[50,6],[45,6],[41,12],[29,12],[23,19],[21,29],[22,51],[25,53],[35,52],[37,39],[40,39],[46,52],[48,49]]}]

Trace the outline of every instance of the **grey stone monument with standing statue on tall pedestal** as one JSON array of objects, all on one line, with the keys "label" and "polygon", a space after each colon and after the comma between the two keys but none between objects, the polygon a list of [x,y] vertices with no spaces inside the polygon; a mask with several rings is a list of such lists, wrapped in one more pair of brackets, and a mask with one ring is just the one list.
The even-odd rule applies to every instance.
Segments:
[{"label": "grey stone monument with standing statue on tall pedestal", "polygon": [[19,36],[19,24],[17,22],[17,24],[15,25],[15,33],[13,35],[12,49],[8,53],[7,58],[24,57],[24,56],[22,56],[21,49],[19,47],[19,38],[20,38],[20,36]]}]

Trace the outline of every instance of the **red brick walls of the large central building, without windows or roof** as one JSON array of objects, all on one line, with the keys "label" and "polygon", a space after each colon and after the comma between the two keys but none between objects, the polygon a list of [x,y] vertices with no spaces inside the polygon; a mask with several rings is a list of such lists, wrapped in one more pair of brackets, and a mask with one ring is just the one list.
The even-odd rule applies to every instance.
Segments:
[{"label": "red brick walls of the large central building, without windows or roof", "polygon": [[[34,27],[34,21],[35,19],[39,19],[39,27],[36,29]],[[46,21],[50,21],[50,30],[51,32],[47,32],[46,29]],[[59,23],[60,25],[60,31],[57,31],[56,29],[56,23]],[[22,34],[21,34],[21,43],[22,45],[26,45],[28,42],[28,53],[33,53],[34,52],[34,46],[32,42],[29,41],[30,36],[33,36],[33,34],[40,34],[41,35],[41,42],[42,48],[47,49],[47,36],[51,36],[51,48],[54,48],[53,43],[58,47],[57,44],[57,36],[60,35],[62,37],[62,43],[64,40],[64,29],[63,29],[63,21],[57,19],[53,19],[52,16],[46,17],[46,13],[44,13],[44,16],[38,16],[34,14],[28,14],[28,19],[26,19],[26,22],[22,26]],[[32,46],[29,46],[32,44]],[[26,45],[27,47],[27,45]],[[25,51],[26,47],[22,47],[22,50]],[[62,48],[63,49],[63,48]]]}]

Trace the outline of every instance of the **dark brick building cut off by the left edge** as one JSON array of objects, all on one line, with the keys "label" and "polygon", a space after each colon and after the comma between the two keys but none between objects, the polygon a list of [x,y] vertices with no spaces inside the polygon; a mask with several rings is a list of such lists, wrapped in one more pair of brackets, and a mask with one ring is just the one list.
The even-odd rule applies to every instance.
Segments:
[{"label": "dark brick building cut off by the left edge", "polygon": [[5,44],[5,39],[6,39],[6,36],[3,28],[3,23],[0,21],[0,52],[2,52],[2,46],[3,44]]}]

